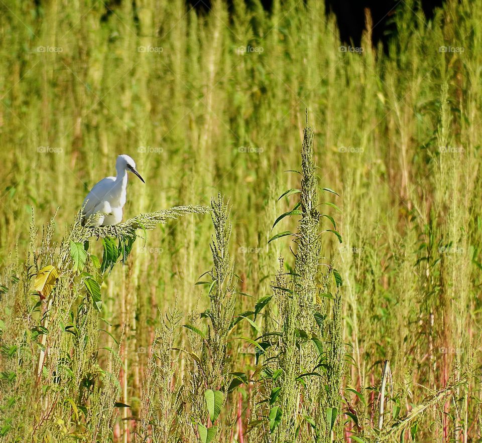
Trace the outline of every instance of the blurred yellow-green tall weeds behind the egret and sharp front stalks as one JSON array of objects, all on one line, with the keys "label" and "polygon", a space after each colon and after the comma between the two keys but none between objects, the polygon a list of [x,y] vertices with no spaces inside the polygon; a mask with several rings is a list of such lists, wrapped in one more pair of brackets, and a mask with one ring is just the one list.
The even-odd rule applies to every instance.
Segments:
[{"label": "blurred yellow-green tall weeds behind the egret and sharp front stalks", "polygon": [[[85,194],[113,173],[116,155],[129,154],[146,185],[130,181],[127,217],[208,205],[220,191],[230,199],[237,290],[266,296],[277,258],[292,262],[289,240],[267,241],[297,223],[285,218],[271,232],[274,220],[293,207],[278,197],[299,187],[299,176],[283,171],[301,163],[308,108],[319,185],[340,194],[332,199],[319,191],[342,211],[326,209],[343,243],[322,236],[321,248],[328,262],[335,257],[343,278],[343,340],[353,360],[343,387],[353,387],[367,403],[342,390],[343,411],[356,409],[360,422],[357,427],[343,415],[335,438],[348,438],[350,430],[372,438],[386,359],[392,375],[386,413],[398,417],[397,407],[402,416],[427,405],[417,425],[400,428],[405,438],[480,438],[479,2],[447,2],[426,21],[415,2],[403,0],[394,10],[397,31],[388,53],[372,47],[370,30],[377,24],[369,15],[362,49],[350,48],[340,43],[323,2],[273,4],[267,13],[257,2],[235,0],[228,11],[214,1],[197,16],[177,0],[1,2],[0,249],[3,284],[11,289],[0,302],[3,328],[10,331],[1,339],[1,383],[17,371],[16,388],[25,388],[15,405],[4,395],[2,426],[25,414],[31,421],[24,419],[23,435],[31,436],[46,419],[41,408],[25,407],[32,392],[32,398],[45,394],[26,382],[33,372],[22,378],[25,365],[7,363],[14,338],[26,333],[11,308],[25,306],[28,283],[21,290],[11,281],[24,272],[29,244],[46,264],[57,257]],[[51,242],[48,235],[32,242],[32,208],[37,226],[56,214],[55,233],[45,228]],[[89,320],[98,336],[88,342],[95,364],[121,387],[116,400],[132,406],[114,411],[105,438],[136,438],[137,421],[121,418],[139,418],[163,314],[176,306],[186,319],[207,306],[206,290],[194,283],[211,267],[212,232],[208,216],[169,222],[149,232],[145,247],[138,240],[127,265],[105,279],[104,320]],[[100,253],[99,245],[92,247]],[[252,304],[238,296],[236,312]],[[240,328],[254,338],[248,323]],[[187,344],[185,328],[173,331],[173,347]],[[121,337],[112,360],[101,348]],[[253,349],[230,346],[234,369],[252,370]],[[189,358],[174,354],[167,353],[174,360],[166,370],[174,365],[181,375],[189,372]],[[34,345],[32,355],[38,356]],[[171,374],[179,383],[181,375]],[[433,401],[455,382],[448,398]],[[245,388],[242,405],[249,404]],[[235,414],[237,402],[230,402]],[[239,410],[243,424],[219,438],[242,441],[239,426],[245,429],[249,416],[244,406]],[[78,423],[62,420],[57,424],[65,429],[52,440],[80,432]],[[14,434],[10,429],[7,441]]]}]

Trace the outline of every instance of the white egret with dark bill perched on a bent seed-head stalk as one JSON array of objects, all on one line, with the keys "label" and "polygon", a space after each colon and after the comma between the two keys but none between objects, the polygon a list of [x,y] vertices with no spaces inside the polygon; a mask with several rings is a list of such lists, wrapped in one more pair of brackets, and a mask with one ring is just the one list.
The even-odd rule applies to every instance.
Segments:
[{"label": "white egret with dark bill perched on a bent seed-head stalk", "polygon": [[122,221],[123,208],[127,198],[128,171],[144,180],[136,170],[136,163],[127,156],[118,156],[115,162],[116,177],[105,177],[87,194],[83,203],[84,222],[92,217],[91,226],[116,225]]}]

